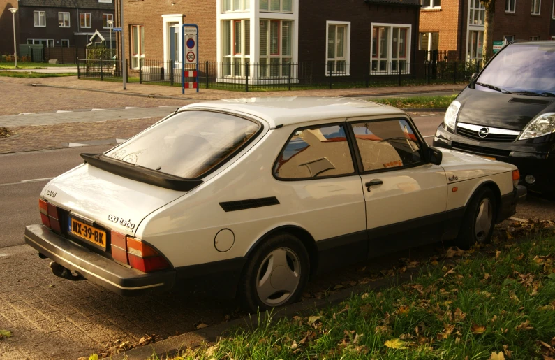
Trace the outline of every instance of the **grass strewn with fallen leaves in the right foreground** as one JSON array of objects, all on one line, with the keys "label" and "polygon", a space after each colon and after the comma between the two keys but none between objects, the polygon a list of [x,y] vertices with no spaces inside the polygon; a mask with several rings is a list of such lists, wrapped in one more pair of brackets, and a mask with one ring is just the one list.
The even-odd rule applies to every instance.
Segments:
[{"label": "grass strewn with fallen leaves in the right foreground", "polygon": [[172,359],[552,359],[555,237],[528,236],[475,255],[451,250],[462,257],[429,261],[406,285],[308,317],[260,320]]}]

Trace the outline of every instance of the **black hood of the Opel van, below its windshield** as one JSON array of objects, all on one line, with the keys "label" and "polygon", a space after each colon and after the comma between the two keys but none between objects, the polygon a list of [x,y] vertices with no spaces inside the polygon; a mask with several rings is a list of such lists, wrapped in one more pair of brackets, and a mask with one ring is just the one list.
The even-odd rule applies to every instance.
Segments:
[{"label": "black hood of the Opel van, below its windshield", "polygon": [[487,92],[467,87],[457,97],[458,122],[484,127],[524,130],[536,115],[555,111],[555,98]]}]

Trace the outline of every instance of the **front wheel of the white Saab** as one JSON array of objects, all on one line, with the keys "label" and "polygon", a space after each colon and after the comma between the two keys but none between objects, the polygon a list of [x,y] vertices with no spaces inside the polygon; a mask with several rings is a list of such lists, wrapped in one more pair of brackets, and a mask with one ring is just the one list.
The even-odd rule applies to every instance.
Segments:
[{"label": "front wheel of the white Saab", "polygon": [[487,187],[478,189],[466,208],[456,245],[468,249],[475,243],[489,243],[494,233],[495,214],[494,192]]}]

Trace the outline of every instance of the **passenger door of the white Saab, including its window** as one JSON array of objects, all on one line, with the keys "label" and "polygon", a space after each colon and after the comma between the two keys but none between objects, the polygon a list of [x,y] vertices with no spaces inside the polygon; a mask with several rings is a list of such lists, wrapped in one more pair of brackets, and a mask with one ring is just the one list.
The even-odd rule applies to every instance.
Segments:
[{"label": "passenger door of the white Saab, including its window", "polygon": [[366,203],[369,256],[441,239],[447,181],[410,120],[349,122]]}]

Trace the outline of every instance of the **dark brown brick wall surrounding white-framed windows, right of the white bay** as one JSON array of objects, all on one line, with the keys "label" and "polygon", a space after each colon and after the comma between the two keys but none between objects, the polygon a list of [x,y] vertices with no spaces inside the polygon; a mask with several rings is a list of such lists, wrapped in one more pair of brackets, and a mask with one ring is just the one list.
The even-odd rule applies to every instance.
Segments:
[{"label": "dark brown brick wall surrounding white-framed windows, right of the white bay", "polygon": [[[410,24],[410,57],[415,58],[418,10],[414,6],[368,5],[362,0],[299,2],[299,62],[325,63],[326,21],[350,21],[350,62],[370,62],[371,23]],[[316,9],[316,10],[315,10]],[[367,68],[366,68],[367,69]]]}]

